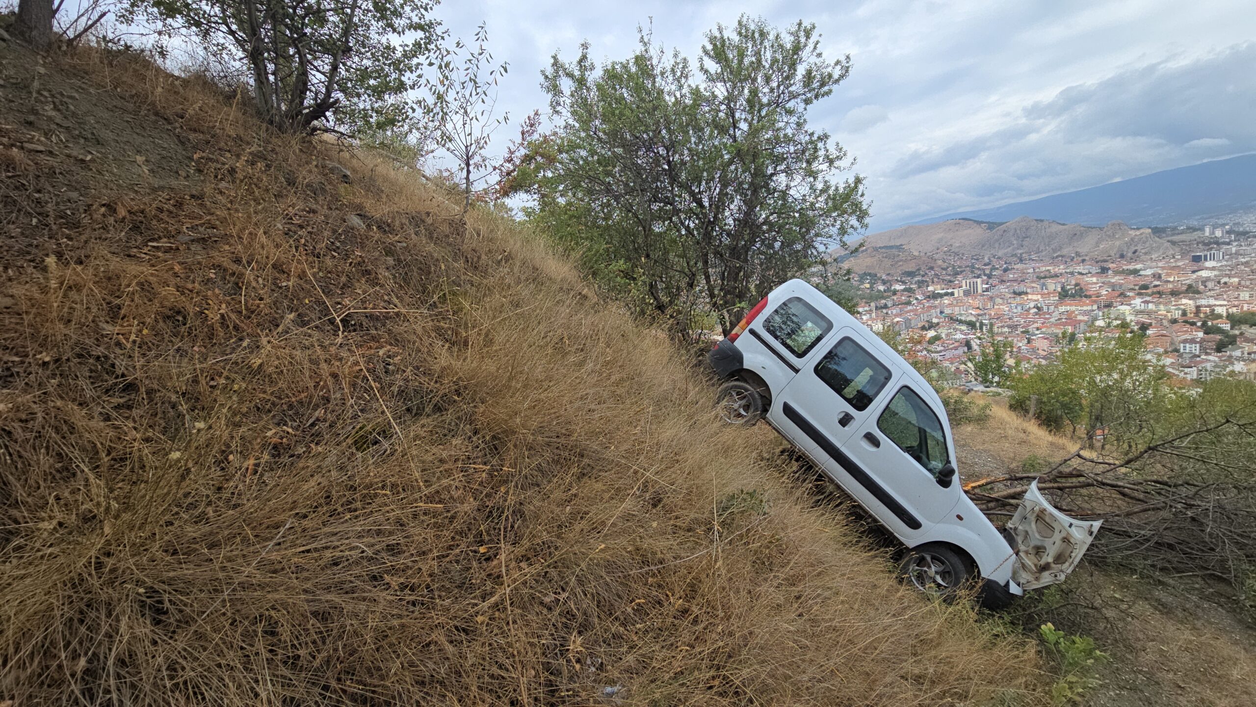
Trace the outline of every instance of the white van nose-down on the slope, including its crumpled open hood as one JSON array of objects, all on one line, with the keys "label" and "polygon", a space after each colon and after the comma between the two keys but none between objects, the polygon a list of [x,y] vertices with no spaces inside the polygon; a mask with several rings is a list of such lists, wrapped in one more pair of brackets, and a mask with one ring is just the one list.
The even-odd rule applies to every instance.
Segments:
[{"label": "white van nose-down on the slope, including its crumpled open hood", "polygon": [[756,304],[711,350],[727,422],[767,421],[907,546],[903,576],[953,591],[980,576],[987,604],[1061,581],[1099,530],[1036,482],[1000,532],[961,488],[955,441],[928,382],[803,280]]}]

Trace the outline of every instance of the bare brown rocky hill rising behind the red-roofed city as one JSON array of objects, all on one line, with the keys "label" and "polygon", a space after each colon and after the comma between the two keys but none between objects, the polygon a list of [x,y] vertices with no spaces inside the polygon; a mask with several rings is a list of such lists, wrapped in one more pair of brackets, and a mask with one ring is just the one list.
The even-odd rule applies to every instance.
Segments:
[{"label": "bare brown rocky hill rising behind the red-roofed city", "polygon": [[901,246],[921,255],[1078,255],[1089,257],[1161,256],[1177,247],[1150,229],[1130,229],[1113,221],[1099,229],[1022,216],[1006,224],[956,219],[941,224],[903,226],[867,237],[868,247]]}]

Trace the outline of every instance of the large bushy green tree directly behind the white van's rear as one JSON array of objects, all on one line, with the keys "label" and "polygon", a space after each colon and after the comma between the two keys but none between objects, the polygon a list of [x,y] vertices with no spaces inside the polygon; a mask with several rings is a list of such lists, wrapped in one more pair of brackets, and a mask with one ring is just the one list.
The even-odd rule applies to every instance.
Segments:
[{"label": "large bushy green tree directly behind the white van's rear", "polygon": [[[595,65],[589,45],[543,73],[555,132],[538,141],[529,215],[642,313],[723,332],[781,281],[865,225],[863,178],[808,123],[849,57],[825,59],[815,26],[742,16],[691,63],[639,31],[637,53]],[[520,171],[522,172],[522,170]]]}]

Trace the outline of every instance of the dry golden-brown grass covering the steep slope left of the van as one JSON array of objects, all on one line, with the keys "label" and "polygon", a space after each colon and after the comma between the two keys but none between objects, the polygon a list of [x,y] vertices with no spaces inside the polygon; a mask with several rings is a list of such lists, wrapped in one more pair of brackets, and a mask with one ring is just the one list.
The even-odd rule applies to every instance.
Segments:
[{"label": "dry golden-brown grass covering the steep slope left of the van", "polygon": [[198,178],[9,224],[67,237],[0,309],[0,701],[1035,699],[1029,643],[899,586],[512,222],[68,62]]}]

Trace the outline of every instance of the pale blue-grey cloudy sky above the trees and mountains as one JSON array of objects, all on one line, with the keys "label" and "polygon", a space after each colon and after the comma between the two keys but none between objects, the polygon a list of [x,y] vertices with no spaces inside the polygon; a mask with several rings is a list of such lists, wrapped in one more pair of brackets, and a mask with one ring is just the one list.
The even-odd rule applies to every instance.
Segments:
[{"label": "pale blue-grey cloudy sky above the trees and mountains", "polygon": [[446,0],[437,16],[467,38],[487,23],[516,121],[545,108],[554,51],[588,39],[622,59],[653,20],[696,57],[742,13],[813,21],[826,55],[852,55],[811,117],[868,178],[872,231],[1256,151],[1252,0]]}]

